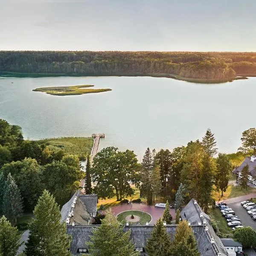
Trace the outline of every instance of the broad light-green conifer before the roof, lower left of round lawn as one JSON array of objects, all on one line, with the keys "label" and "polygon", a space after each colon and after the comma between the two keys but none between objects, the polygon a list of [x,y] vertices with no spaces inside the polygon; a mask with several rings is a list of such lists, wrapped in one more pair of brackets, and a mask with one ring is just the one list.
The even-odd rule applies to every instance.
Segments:
[{"label": "broad light-green conifer before the roof, lower left of round lawn", "polygon": [[108,211],[102,224],[93,229],[93,235],[86,244],[91,256],[138,256],[130,239],[131,230],[123,232],[116,217]]}]

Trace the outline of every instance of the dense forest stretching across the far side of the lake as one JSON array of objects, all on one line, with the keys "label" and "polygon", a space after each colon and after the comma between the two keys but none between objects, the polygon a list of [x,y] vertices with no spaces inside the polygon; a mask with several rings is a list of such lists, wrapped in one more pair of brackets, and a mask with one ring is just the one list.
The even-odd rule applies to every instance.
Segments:
[{"label": "dense forest stretching across the far side of the lake", "polygon": [[0,72],[231,79],[256,75],[256,53],[0,51]]}]

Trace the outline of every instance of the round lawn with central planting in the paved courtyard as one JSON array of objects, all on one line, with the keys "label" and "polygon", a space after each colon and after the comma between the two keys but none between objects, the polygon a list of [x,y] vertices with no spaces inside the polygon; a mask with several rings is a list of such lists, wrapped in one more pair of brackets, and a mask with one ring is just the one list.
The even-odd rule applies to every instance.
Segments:
[{"label": "round lawn with central planting in the paved courtyard", "polygon": [[121,222],[122,224],[126,224],[128,221],[130,225],[133,224],[141,224],[145,225],[146,222],[151,221],[151,216],[142,211],[125,211],[121,212],[116,216],[117,220]]}]

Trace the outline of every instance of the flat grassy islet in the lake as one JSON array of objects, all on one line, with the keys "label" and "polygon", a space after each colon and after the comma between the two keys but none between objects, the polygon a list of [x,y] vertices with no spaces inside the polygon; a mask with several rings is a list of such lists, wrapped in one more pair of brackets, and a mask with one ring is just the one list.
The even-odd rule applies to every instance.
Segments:
[{"label": "flat grassy islet in the lake", "polygon": [[111,91],[111,89],[85,89],[87,87],[94,87],[92,84],[83,84],[75,86],[60,86],[60,87],[42,87],[36,88],[33,91],[43,92],[51,95],[67,96],[67,95],[81,95],[84,93],[101,93]]}]

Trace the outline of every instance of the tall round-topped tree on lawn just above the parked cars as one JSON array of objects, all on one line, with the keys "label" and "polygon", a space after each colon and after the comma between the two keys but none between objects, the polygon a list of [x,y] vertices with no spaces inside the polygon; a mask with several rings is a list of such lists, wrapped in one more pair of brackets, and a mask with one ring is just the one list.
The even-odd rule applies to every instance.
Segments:
[{"label": "tall round-topped tree on lawn just above the parked cars", "polygon": [[226,154],[218,154],[217,158],[217,173],[215,175],[215,186],[218,191],[221,190],[221,196],[223,191],[225,192],[228,185],[229,175],[232,169],[232,164]]}]

